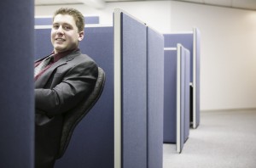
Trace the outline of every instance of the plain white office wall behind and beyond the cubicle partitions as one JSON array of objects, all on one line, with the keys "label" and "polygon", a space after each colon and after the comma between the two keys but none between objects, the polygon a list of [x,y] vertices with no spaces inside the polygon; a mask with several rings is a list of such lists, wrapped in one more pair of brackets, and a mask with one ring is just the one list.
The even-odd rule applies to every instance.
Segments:
[{"label": "plain white office wall behind and beyond the cubicle partitions", "polygon": [[[256,11],[193,3],[149,1],[107,3],[103,10],[72,5],[85,15],[112,24],[113,8],[122,8],[161,33],[201,31],[201,109],[256,108]],[[60,6],[35,8],[51,15]]]}]

